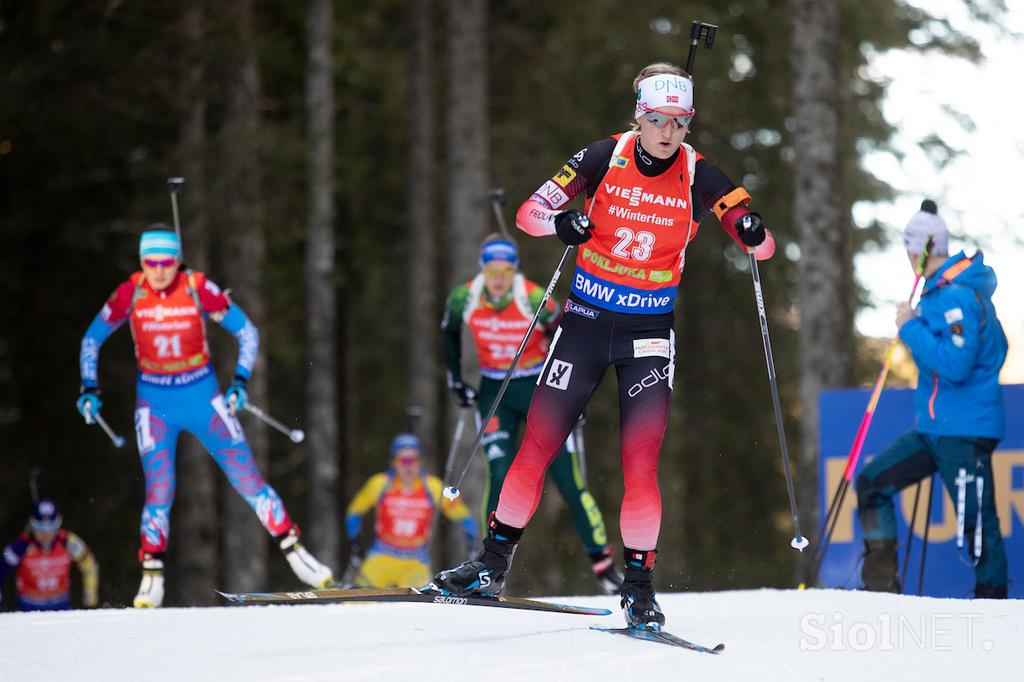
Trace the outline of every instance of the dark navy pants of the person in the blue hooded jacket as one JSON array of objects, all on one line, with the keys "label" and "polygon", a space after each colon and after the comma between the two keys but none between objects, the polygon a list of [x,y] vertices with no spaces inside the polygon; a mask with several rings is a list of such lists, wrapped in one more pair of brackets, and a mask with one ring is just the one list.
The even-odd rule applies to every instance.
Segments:
[{"label": "dark navy pants of the person in the blue hooded jacket", "polygon": [[[954,502],[964,487],[964,550],[973,559],[978,518],[978,479],[981,495],[981,556],[975,565],[975,583],[987,588],[1006,588],[1007,552],[995,513],[991,438],[929,436],[909,431],[876,457],[857,476],[857,514],[864,540],[896,540],[896,509],[893,496],[936,471]],[[958,482],[961,469],[966,480]]]}]

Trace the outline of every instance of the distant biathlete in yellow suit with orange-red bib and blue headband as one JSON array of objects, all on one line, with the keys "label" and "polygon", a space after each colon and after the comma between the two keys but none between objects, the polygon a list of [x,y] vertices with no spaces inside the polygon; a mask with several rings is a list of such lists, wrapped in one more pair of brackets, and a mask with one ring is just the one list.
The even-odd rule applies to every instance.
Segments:
[{"label": "distant biathlete in yellow suit with orange-red bib and blue headband", "polygon": [[[441,496],[443,483],[423,472],[420,439],[402,433],[391,441],[391,468],[371,476],[352,498],[345,516],[350,569],[347,577],[359,587],[423,587],[430,582],[430,541],[434,516],[440,513],[459,523],[467,547],[479,541],[469,509],[457,499]],[[374,542],[361,559],[359,530],[362,517],[374,511]]]}]

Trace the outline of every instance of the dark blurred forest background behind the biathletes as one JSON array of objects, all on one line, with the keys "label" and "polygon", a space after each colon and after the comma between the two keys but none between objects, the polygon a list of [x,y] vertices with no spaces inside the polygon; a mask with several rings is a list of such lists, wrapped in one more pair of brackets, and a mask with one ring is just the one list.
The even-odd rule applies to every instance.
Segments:
[{"label": "dark blurred forest background behind the biathletes", "polygon": [[[1005,10],[968,4],[993,24]],[[761,275],[813,539],[817,391],[867,383],[879,363],[852,329],[852,258],[880,230],[854,228],[850,207],[890,193],[860,162],[892,133],[866,55],[978,57],[970,36],[902,0],[2,0],[0,544],[25,524],[38,467],[41,493],[98,558],[101,601],[131,601],[143,484],[130,335],[100,356],[103,414],[129,439],[121,451],[75,411],[79,342],[137,269],[139,232],[171,221],[166,178],[181,175],[188,264],[230,288],[262,334],[251,399],[307,432],[295,445],[247,416],[250,441],[340,576],[345,505],[387,466],[411,407],[423,412],[415,428],[430,468],[443,469],[456,414],[439,322],[496,227],[488,189],[505,188],[511,220],[566,158],[625,130],[634,75],[685,63],[693,19],[720,29],[697,54],[688,141],[750,190],[779,243]],[[525,273],[546,283],[561,246],[519,242]],[[751,278],[714,218],[681,289],[658,586],[792,585],[799,559]],[[236,344],[211,337],[226,384]],[[586,433],[617,553],[612,378]],[[213,603],[214,587],[297,587],[190,436],[177,463],[165,603]],[[474,505],[476,465],[463,486]],[[437,543],[435,567],[461,560],[460,544]],[[510,590],[594,590],[557,495],[527,530]]]}]

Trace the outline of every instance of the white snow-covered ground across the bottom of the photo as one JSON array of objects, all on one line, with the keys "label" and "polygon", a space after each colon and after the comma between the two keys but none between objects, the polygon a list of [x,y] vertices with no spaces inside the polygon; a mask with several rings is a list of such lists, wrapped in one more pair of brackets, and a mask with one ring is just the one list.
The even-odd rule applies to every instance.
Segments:
[{"label": "white snow-covered ground across the bottom of the photo", "polygon": [[[617,608],[611,597],[561,597]],[[721,655],[589,630],[590,617],[432,604],[0,613],[0,680],[1020,679],[1024,601],[831,590],[665,594],[668,630]]]}]

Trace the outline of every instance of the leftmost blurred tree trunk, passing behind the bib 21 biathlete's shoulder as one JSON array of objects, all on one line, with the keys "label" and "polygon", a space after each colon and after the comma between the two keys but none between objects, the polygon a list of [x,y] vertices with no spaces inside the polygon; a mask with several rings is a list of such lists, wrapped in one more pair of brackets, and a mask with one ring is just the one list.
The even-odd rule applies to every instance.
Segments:
[{"label": "leftmost blurred tree trunk, passing behind the bib 21 biathlete's shoulder", "polygon": [[[179,209],[183,213],[181,239],[189,267],[205,270],[209,265],[210,239],[206,219],[206,91],[203,44],[203,2],[191,0],[182,16],[182,42],[185,46],[185,68],[181,79],[181,144],[178,166],[186,179]],[[184,208],[187,207],[187,210]],[[202,606],[213,603],[217,587],[217,479],[213,462],[206,449],[190,435],[179,441],[178,487],[175,501],[175,536],[183,542],[172,542],[168,566],[176,577],[172,580],[177,598],[175,603]]]}]

